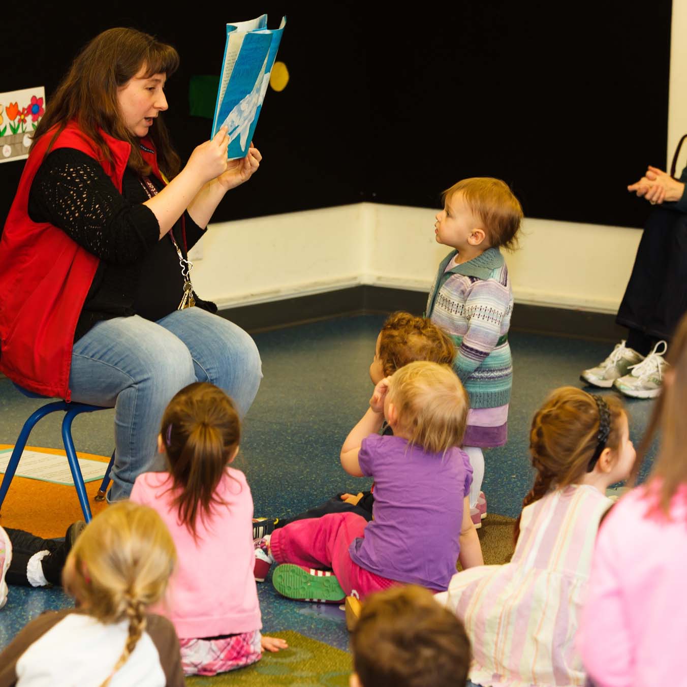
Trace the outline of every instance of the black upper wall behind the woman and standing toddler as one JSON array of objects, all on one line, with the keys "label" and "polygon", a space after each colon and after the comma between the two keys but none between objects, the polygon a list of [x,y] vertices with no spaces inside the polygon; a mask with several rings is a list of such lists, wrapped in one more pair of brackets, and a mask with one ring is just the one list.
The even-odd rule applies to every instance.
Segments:
[{"label": "black upper wall behind the woman and standing toddler", "polygon": [[[166,119],[182,157],[210,133],[188,114],[194,74],[218,74],[224,24],[287,14],[278,59],[291,80],[269,90],[255,143],[260,172],[216,220],[378,201],[432,207],[458,179],[510,183],[528,216],[640,226],[625,186],[664,166],[671,1],[458,0],[412,17],[361,2],[210,3],[162,13],[127,3],[70,3],[6,21],[14,55],[0,91],[45,85],[47,104],[71,58],[106,28],[128,25],[175,45]],[[171,7],[171,6],[170,6]],[[648,58],[650,56],[650,58]],[[7,64],[7,63],[5,63]],[[687,122],[686,122],[687,128]],[[0,219],[22,162],[0,165]]]}]

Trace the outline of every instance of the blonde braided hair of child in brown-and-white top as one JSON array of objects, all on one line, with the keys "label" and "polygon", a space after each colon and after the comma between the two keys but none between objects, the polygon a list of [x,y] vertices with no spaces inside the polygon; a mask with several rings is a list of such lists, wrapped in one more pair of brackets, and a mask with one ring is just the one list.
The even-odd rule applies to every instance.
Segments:
[{"label": "blonde braided hair of child in brown-and-white top", "polygon": [[153,508],[120,501],[80,534],[63,571],[65,591],[104,624],[128,618],[124,650],[101,687],[126,663],[146,629],[146,608],[164,594],[177,550]]}]

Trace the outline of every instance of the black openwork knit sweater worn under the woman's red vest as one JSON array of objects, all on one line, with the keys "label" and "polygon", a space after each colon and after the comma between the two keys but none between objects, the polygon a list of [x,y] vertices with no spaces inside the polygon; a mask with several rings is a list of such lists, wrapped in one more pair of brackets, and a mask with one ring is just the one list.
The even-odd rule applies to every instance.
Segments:
[{"label": "black openwork knit sweater worn under the woman's red vest", "polygon": [[[157,190],[162,183],[150,177]],[[124,171],[122,193],[102,167],[74,148],[58,148],[43,160],[31,185],[29,216],[49,222],[100,258],[76,324],[74,341],[103,319],[140,315],[153,322],[174,312],[183,295],[177,250],[144,201],[135,172]],[[184,253],[181,220],[172,229]],[[185,213],[186,245],[203,235]]]}]

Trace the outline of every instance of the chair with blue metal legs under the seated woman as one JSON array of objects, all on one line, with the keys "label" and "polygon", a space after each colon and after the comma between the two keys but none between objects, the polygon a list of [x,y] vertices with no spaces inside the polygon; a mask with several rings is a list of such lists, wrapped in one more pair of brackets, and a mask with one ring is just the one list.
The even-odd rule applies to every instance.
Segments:
[{"label": "chair with blue metal legs under the seated woman", "polygon": [[[27,391],[19,385],[15,384],[14,386],[22,394],[28,396],[29,398],[45,398],[45,396],[41,396],[39,394],[34,394],[32,392]],[[24,451],[26,442],[29,440],[31,430],[38,423],[38,420],[41,420],[41,418],[44,418],[46,415],[49,415],[50,413],[54,413],[60,410],[65,413],[65,417],[62,420],[62,441],[63,444],[65,444],[65,451],[67,453],[69,469],[71,470],[71,477],[74,480],[74,487],[76,488],[76,494],[78,495],[79,503],[81,504],[81,510],[83,511],[84,519],[86,522],[90,522],[92,518],[91,506],[89,506],[88,496],[86,494],[86,486],[84,484],[84,478],[81,474],[81,469],[76,458],[74,440],[71,438],[71,423],[73,423],[74,418],[76,418],[76,416],[81,413],[92,413],[96,410],[107,410],[107,408],[102,407],[100,405],[87,405],[87,403],[74,402],[67,403],[66,401],[52,401],[51,403],[46,403],[45,405],[38,408],[38,410],[36,410],[34,413],[32,413],[30,418],[26,420],[24,426],[21,428],[19,438],[16,440],[14,450],[12,451],[12,455],[10,456],[10,462],[8,463],[7,471],[5,471],[5,476],[3,477],[2,484],[0,484],[0,508],[2,508],[3,501],[5,500],[5,496],[7,495],[7,492],[10,488],[10,482],[12,482],[12,477],[14,477],[16,467],[19,465],[19,459],[21,458],[21,454]],[[107,489],[107,485],[110,482],[110,471],[112,469],[112,465],[114,462],[115,454],[113,452],[112,458],[110,459],[109,465],[107,466],[105,476],[103,477],[102,483],[100,484],[100,490],[98,491],[98,495],[95,497],[96,501],[102,501],[102,499],[104,499],[105,497],[105,491]]]}]

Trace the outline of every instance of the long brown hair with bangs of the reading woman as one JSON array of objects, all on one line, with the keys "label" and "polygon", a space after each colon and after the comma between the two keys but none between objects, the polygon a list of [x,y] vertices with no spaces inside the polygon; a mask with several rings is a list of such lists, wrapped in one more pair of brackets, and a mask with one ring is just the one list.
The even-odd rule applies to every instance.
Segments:
[{"label": "long brown hair with bangs of the reading woman", "polygon": [[[135,29],[109,29],[95,36],[76,56],[67,76],[47,101],[33,144],[52,127],[58,126],[50,142],[52,146],[65,126],[75,121],[108,161],[112,157],[100,129],[131,143],[128,166],[143,176],[150,174],[150,166],[139,149],[139,140],[124,126],[117,100],[117,89],[144,67],[146,77],[153,74],[171,76],[179,67],[179,54],[171,45],[160,43],[153,36]],[[154,120],[148,136],[157,150],[160,170],[171,179],[179,172],[180,161],[172,149],[161,117]]]}]

